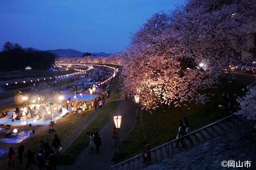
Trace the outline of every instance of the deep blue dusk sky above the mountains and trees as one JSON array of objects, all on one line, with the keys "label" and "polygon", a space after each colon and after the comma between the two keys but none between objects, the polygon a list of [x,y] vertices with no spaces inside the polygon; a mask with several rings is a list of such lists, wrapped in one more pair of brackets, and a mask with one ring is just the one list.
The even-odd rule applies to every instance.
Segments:
[{"label": "deep blue dusk sky above the mountains and trees", "polygon": [[1,0],[0,46],[124,51],[152,14],[172,10],[184,0]]}]

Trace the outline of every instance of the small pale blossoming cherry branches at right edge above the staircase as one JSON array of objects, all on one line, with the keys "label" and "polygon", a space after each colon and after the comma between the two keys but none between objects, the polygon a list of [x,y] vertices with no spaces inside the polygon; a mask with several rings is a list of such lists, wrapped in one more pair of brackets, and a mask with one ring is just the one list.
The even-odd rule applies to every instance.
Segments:
[{"label": "small pale blossoming cherry branches at right edge above the staircase", "polygon": [[237,102],[240,104],[240,110],[237,115],[243,115],[248,120],[256,120],[256,86],[247,86],[248,92],[243,97],[238,97]]}]

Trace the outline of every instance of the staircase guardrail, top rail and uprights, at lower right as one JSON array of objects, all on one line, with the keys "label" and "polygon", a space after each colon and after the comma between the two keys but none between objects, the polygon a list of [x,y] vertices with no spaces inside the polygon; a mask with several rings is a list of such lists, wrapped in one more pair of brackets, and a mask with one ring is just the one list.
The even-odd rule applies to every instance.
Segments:
[{"label": "staircase guardrail, top rail and uprights, at lower right", "polygon": [[[175,152],[174,152],[174,147],[173,147],[173,143],[174,143],[174,142],[176,142],[176,141],[178,141],[178,140],[182,140],[182,139],[184,139],[184,138],[188,138],[188,137],[191,137],[191,141],[192,141],[192,140],[193,140],[193,136],[195,135],[195,133],[200,133],[200,131],[205,130],[206,128],[212,128],[212,133],[211,133],[211,135],[212,135],[212,137],[213,137],[213,134],[214,134],[214,125],[216,125],[216,124],[218,124],[218,123],[220,123],[220,122],[222,122],[222,121],[224,121],[224,120],[230,119],[230,118],[233,118],[233,120],[232,120],[232,129],[234,129],[235,125],[238,125],[238,116],[232,114],[232,115],[229,115],[229,116],[227,116],[227,117],[224,117],[223,119],[220,119],[220,120],[218,120],[218,121],[215,121],[215,122],[213,122],[213,123],[211,123],[211,124],[209,124],[209,125],[206,125],[206,126],[204,126],[204,127],[201,127],[200,129],[197,129],[197,130],[195,130],[195,131],[192,131],[192,132],[190,132],[190,133],[188,133],[188,134],[186,134],[186,135],[184,135],[184,136],[182,136],[182,137],[179,137],[178,139],[174,139],[174,140],[172,140],[172,141],[170,141],[170,142],[168,142],[168,143],[164,143],[164,144],[162,144],[162,145],[160,145],[160,146],[158,146],[158,147],[155,147],[155,148],[149,150],[148,152],[152,153],[152,152],[156,152],[156,150],[161,150],[161,152],[162,152],[163,148],[167,149],[166,156],[162,156],[162,158],[160,158],[160,159],[158,158],[157,162],[160,162],[161,160],[164,160],[164,159],[166,159],[166,158],[168,158],[168,157],[170,157],[170,156],[172,156],[172,155],[175,154]],[[235,118],[236,118],[236,119],[235,119]],[[205,141],[204,141],[204,142],[205,142]],[[201,142],[201,143],[203,143],[203,142]],[[163,155],[163,154],[162,154],[162,155]],[[110,166],[110,170],[121,170],[121,169],[137,170],[137,169],[140,169],[140,161],[139,161],[139,164],[137,164],[137,166],[136,166],[136,165],[135,165],[135,160],[136,160],[136,159],[139,159],[139,160],[140,160],[140,157],[142,157],[142,156],[143,156],[143,154],[139,154],[139,155],[137,155],[137,156],[134,156],[134,157],[132,157],[132,158],[129,158],[129,159],[127,159],[127,160],[124,160],[124,161],[122,161],[122,162],[120,162],[120,163],[118,163],[118,164],[115,164],[115,165],[113,165],[113,166]],[[132,161],[134,161],[134,166],[133,166],[133,167],[131,167],[131,162],[132,162]],[[137,161],[137,162],[138,162],[138,161]],[[155,162],[155,163],[156,163],[156,162]],[[124,166],[124,164],[128,164],[128,165],[126,166],[126,168],[124,168],[124,167],[119,168],[119,166]],[[136,168],[136,167],[137,167],[137,168]],[[145,168],[145,167],[146,167],[146,166],[143,166],[143,167],[141,167],[141,168]]]}]

